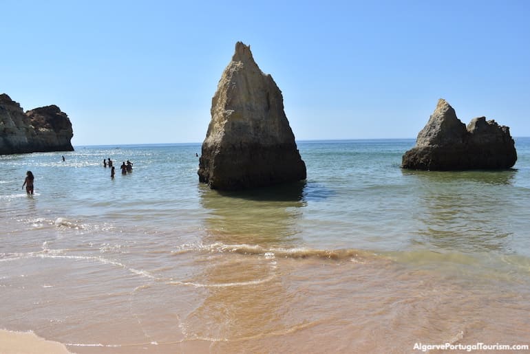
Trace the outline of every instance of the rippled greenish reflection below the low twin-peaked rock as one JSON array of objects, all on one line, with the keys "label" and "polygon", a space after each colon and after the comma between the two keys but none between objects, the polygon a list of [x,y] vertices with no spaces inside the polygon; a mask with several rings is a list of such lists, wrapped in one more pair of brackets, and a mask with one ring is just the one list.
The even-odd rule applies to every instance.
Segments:
[{"label": "rippled greenish reflection below the low twin-peaked rock", "polygon": [[517,170],[457,172],[403,170],[416,179],[420,243],[439,250],[506,251],[515,206],[507,194]]}]

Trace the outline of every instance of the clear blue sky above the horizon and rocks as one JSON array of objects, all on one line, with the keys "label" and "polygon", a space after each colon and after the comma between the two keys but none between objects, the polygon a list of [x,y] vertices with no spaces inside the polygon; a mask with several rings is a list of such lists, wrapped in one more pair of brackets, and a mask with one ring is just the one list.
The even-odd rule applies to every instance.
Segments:
[{"label": "clear blue sky above the horizon and rocks", "polygon": [[0,93],[74,146],[202,142],[235,42],[297,140],[416,137],[445,98],[530,136],[530,1],[0,0]]}]

